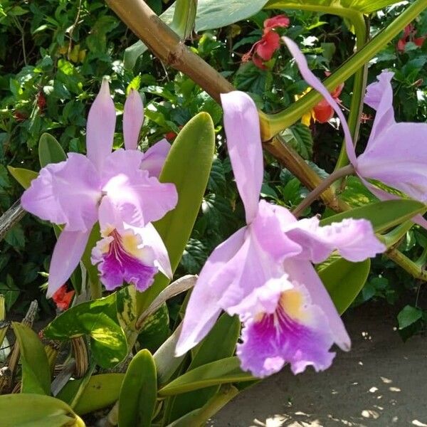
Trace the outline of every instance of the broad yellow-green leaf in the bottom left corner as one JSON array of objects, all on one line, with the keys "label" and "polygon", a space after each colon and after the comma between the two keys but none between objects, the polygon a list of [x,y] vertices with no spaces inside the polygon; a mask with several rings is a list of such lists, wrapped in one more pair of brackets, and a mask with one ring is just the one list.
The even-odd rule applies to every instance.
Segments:
[{"label": "broad yellow-green leaf in the bottom left corner", "polygon": [[43,394],[0,396],[1,427],[85,427],[73,409],[59,399]]}]

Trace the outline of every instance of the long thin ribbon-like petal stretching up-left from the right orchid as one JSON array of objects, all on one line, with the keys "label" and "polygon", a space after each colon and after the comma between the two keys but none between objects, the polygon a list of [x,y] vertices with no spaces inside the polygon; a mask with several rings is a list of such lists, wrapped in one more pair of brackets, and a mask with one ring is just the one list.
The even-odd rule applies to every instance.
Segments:
[{"label": "long thin ribbon-like petal stretching up-left from the right orchid", "polygon": [[327,88],[325,88],[325,86],[322,85],[322,82],[311,72],[310,68],[308,68],[307,60],[305,59],[305,56],[302,54],[302,52],[300,51],[300,48],[298,48],[296,43],[288,37],[283,37],[283,41],[285,41],[286,46],[288,46],[288,49],[291,55],[294,57],[295,62],[297,63],[298,68],[300,69],[300,73],[304,78],[304,80],[310,86],[312,86],[312,88],[317,90],[317,92],[319,92],[325,98],[325,100],[329,102],[330,106],[337,113],[339,120],[341,120],[342,130],[344,131],[347,157],[349,158],[349,161],[352,164],[356,164],[356,152],[353,146],[352,134],[350,133],[349,126],[347,125],[347,120],[345,119],[341,108],[337,104],[337,101],[334,100],[334,98],[329,93]]}]

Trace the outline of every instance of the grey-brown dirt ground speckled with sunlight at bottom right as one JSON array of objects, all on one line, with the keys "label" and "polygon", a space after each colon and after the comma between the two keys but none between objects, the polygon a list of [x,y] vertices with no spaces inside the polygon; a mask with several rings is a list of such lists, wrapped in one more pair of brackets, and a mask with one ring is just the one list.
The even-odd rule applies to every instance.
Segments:
[{"label": "grey-brown dirt ground speckled with sunlight at bottom right", "polygon": [[427,427],[427,337],[402,342],[394,314],[365,305],[344,317],[352,351],[316,374],[288,369],[246,390],[210,427]]}]

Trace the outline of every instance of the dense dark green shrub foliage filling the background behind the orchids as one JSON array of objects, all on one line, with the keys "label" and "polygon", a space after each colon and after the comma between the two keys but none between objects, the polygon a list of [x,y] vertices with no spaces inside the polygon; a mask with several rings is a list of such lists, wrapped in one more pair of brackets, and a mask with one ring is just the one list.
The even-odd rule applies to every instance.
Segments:
[{"label": "dense dark green shrub foliage filling the background behind the orchids", "polygon": [[[168,1],[147,1],[161,13]],[[404,6],[392,6],[371,21],[371,34],[399,15]],[[239,90],[250,93],[258,107],[276,112],[290,105],[295,95],[307,87],[289,60],[284,48],[270,60],[267,70],[251,61],[242,63],[262,34],[263,21],[282,11],[261,11],[243,21],[214,31],[195,34],[187,44],[221,71]],[[286,33],[299,41],[310,66],[322,78],[352,53],[354,36],[337,16],[289,11],[291,26]],[[417,36],[427,33],[427,13],[414,23]],[[132,87],[144,98],[146,119],[141,133],[142,149],[166,136],[171,142],[176,132],[193,115],[209,112],[217,132],[216,159],[208,191],[177,275],[198,273],[212,249],[243,223],[243,210],[236,197],[231,167],[223,145],[222,112],[214,100],[189,78],[166,68],[149,52],[135,67],[125,68],[125,48],[137,38],[121,23],[103,1],[4,0],[0,4],[0,209],[2,212],[21,195],[21,187],[9,176],[7,166],[38,169],[37,144],[43,132],[55,135],[66,152],[85,151],[85,117],[104,75],[110,78],[118,111],[115,147],[122,145],[121,112],[125,95]],[[396,48],[397,38],[369,63],[369,79],[374,81],[384,68],[395,72],[396,120],[426,121],[427,43],[419,48],[407,43],[404,52]],[[341,95],[343,107],[349,106],[352,81]],[[367,115],[372,111],[366,108]],[[359,148],[369,135],[371,122],[362,125]],[[311,132],[297,124],[283,135],[300,155],[332,172],[342,139],[330,124],[312,125]],[[295,206],[307,193],[300,182],[272,157],[265,156],[263,196],[287,207]],[[350,181],[344,198],[360,204],[356,179]],[[356,194],[358,194],[356,196]],[[362,194],[362,195],[361,195]],[[324,207],[315,206],[315,212]],[[28,302],[38,299],[44,315],[53,306],[39,287],[46,282],[40,273],[48,269],[54,244],[51,226],[33,216],[25,216],[0,243],[0,292],[6,295],[8,309],[21,313]],[[425,260],[427,236],[413,229],[399,249],[411,258]],[[424,258],[422,258],[424,257]],[[384,298],[404,307],[399,324],[404,337],[425,329],[426,311],[419,307],[421,283],[416,283],[399,268],[378,258],[370,278],[357,298],[360,304],[371,298]],[[171,314],[173,310],[171,311]],[[408,321],[409,319],[409,321]]]}]

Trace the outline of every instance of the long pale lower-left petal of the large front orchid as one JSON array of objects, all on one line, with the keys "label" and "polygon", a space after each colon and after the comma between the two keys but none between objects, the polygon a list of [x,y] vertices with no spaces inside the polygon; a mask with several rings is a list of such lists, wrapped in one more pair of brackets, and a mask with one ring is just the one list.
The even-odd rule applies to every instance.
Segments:
[{"label": "long pale lower-left petal of the large front orchid", "polygon": [[246,227],[236,231],[217,246],[206,260],[186,307],[181,334],[176,344],[176,357],[201,342],[218,319],[222,310],[218,302],[234,276],[233,270],[226,266],[244,245],[246,231]]}]

